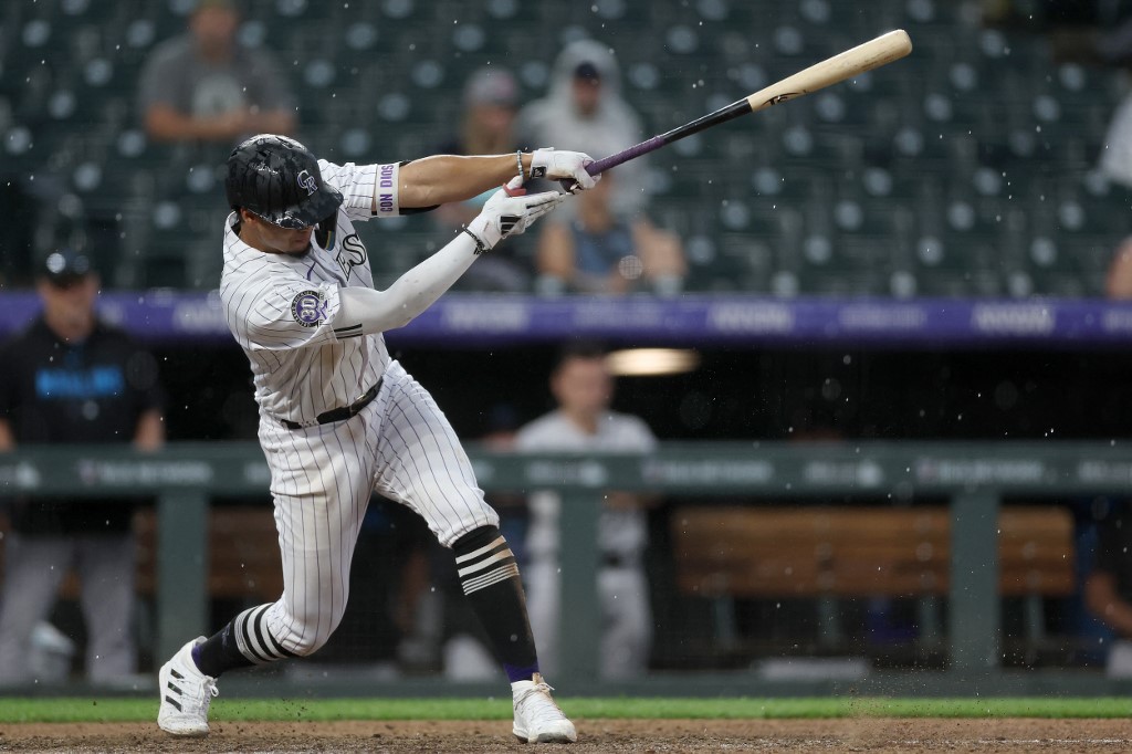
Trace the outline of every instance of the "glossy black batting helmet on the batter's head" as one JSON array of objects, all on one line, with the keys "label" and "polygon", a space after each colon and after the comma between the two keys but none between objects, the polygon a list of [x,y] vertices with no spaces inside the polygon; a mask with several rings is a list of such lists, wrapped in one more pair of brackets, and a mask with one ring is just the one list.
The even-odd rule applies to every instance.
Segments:
[{"label": "glossy black batting helmet on the batter's head", "polygon": [[273,225],[302,229],[337,212],[342,194],[323,182],[315,155],[285,136],[260,134],[232,151],[224,192]]}]

